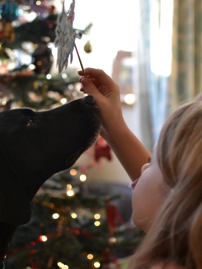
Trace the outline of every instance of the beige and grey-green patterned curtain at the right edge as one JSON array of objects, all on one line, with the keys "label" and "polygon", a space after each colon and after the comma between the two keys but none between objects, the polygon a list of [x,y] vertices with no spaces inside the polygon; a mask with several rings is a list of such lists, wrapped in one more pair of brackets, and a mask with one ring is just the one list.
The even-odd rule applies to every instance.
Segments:
[{"label": "beige and grey-green patterned curtain at the right edge", "polygon": [[202,91],[202,1],[174,0],[168,110]]}]

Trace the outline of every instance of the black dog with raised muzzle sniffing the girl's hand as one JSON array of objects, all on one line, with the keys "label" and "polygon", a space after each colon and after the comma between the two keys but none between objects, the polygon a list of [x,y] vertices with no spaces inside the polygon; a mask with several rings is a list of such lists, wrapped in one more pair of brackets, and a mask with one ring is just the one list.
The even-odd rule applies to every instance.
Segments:
[{"label": "black dog with raised muzzle sniffing the girl's hand", "polygon": [[44,112],[0,113],[0,268],[15,230],[31,217],[40,186],[71,167],[95,142],[99,128],[91,96]]}]

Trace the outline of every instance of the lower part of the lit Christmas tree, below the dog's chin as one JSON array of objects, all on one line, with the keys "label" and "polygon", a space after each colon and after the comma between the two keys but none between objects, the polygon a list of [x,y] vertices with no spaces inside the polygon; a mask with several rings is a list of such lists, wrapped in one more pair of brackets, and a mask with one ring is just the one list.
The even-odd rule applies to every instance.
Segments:
[{"label": "lower part of the lit Christmas tree, below the dog's chin", "polygon": [[120,196],[90,193],[76,173],[56,174],[39,190],[31,221],[9,246],[8,268],[122,268],[118,257],[133,253],[143,233],[118,213],[112,202]]}]

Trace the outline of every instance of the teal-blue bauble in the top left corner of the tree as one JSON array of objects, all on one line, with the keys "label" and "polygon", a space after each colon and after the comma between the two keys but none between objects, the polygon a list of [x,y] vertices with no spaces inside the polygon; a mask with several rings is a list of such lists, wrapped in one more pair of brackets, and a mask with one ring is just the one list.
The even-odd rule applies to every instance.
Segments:
[{"label": "teal-blue bauble in the top left corner of the tree", "polygon": [[6,22],[12,22],[13,20],[17,20],[19,17],[19,8],[16,2],[7,1],[1,6],[1,16],[2,20]]}]

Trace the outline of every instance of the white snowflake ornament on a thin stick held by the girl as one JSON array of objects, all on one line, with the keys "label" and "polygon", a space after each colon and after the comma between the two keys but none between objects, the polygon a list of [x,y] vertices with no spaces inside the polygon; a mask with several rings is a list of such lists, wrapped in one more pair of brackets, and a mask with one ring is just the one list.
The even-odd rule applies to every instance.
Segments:
[{"label": "white snowflake ornament on a thin stick held by the girl", "polygon": [[73,29],[75,0],[70,5],[68,13],[65,12],[65,3],[63,1],[62,12],[58,15],[57,26],[55,28],[55,47],[58,47],[57,65],[59,73],[67,68],[70,55],[70,64],[73,60],[73,49],[75,39],[81,39],[82,30]]}]

